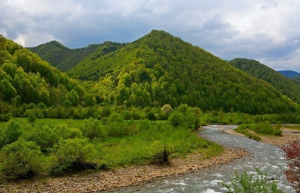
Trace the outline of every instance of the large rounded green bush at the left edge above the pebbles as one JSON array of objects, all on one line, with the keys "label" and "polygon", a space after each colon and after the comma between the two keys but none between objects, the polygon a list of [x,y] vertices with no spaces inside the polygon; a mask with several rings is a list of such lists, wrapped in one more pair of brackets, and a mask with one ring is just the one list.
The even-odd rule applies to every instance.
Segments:
[{"label": "large rounded green bush at the left edge above the pebbles", "polygon": [[18,180],[37,175],[40,170],[40,148],[33,141],[18,139],[2,148],[1,172],[7,180]]}]

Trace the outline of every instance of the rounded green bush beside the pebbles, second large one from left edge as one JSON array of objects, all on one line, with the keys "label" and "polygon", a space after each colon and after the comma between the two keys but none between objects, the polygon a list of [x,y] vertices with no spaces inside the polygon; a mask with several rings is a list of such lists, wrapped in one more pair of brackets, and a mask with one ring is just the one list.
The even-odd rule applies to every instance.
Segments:
[{"label": "rounded green bush beside the pebbles, second large one from left edge", "polygon": [[51,168],[52,175],[97,168],[96,163],[88,162],[95,153],[95,148],[88,139],[62,139],[55,146],[55,150],[54,156],[57,161]]}]

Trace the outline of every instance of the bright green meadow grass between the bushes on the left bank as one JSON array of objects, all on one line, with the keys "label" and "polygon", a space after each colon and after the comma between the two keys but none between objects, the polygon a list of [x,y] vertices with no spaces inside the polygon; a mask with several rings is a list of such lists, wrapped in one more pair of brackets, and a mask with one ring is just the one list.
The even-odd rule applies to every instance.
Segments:
[{"label": "bright green meadow grass between the bushes on the left bank", "polygon": [[[35,141],[37,145],[40,145],[39,143],[50,144],[47,143],[47,140],[50,140],[50,142],[54,138],[58,140],[66,136],[64,134],[71,131],[69,130],[71,128],[78,128],[77,130],[80,132],[80,128],[86,122],[83,119],[36,119],[34,124],[31,125],[28,124],[28,120],[25,118],[16,118],[14,120],[21,124],[22,135],[25,136],[25,139]],[[6,124],[6,122],[1,122],[0,126],[3,124]],[[41,127],[42,124],[47,126]],[[57,132],[57,130],[51,131],[51,129],[56,128],[57,124],[67,126],[62,134]],[[121,129],[122,127],[129,128],[125,136],[113,137],[108,136],[108,133],[106,133],[105,136],[100,138],[88,139],[88,143],[95,148],[95,151],[93,151],[92,155],[88,155],[87,162],[98,163],[99,169],[107,169],[126,165],[161,163],[168,160],[168,158],[186,157],[195,151],[202,153],[204,158],[211,158],[224,151],[222,146],[196,136],[194,130],[185,127],[171,127],[166,121],[156,121],[156,124],[151,124],[150,121],[145,122],[144,120],[123,121],[118,124],[119,126],[121,124]],[[100,129],[104,133],[110,127],[110,123],[108,125],[100,124]],[[47,132],[39,133],[40,131]],[[79,138],[83,137],[82,134],[77,136]],[[52,151],[53,146],[55,145],[49,148],[46,146],[44,155],[40,158],[40,165],[43,168],[42,173],[50,171],[56,161],[55,151]],[[48,149],[50,151],[47,151]]]}]

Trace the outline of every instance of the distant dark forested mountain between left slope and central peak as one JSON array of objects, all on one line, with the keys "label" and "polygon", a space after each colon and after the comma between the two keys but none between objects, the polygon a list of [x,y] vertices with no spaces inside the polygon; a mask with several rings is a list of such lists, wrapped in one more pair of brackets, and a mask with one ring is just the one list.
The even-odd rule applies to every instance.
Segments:
[{"label": "distant dark forested mountain between left slope and central peak", "polygon": [[37,47],[29,47],[32,52],[38,54],[52,66],[61,71],[67,71],[78,64],[81,59],[93,54],[93,58],[113,52],[126,44],[115,42],[103,42],[102,44],[88,45],[80,49],[69,49],[57,41],[47,42]]}]

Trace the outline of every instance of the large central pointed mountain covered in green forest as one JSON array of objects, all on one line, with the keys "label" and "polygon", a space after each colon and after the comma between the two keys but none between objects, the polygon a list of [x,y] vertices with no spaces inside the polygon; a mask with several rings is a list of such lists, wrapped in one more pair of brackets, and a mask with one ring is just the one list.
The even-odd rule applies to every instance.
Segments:
[{"label": "large central pointed mountain covered in green forest", "polygon": [[127,107],[186,103],[250,114],[299,112],[269,83],[158,30],[97,59],[87,57],[68,74],[94,81],[93,94]]}]

